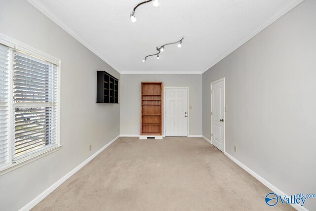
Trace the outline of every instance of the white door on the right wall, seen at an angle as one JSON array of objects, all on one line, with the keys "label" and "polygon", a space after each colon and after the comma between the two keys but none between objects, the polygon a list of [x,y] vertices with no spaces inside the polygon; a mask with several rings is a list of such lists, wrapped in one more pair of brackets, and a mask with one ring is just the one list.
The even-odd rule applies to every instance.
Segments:
[{"label": "white door on the right wall, seen at an angle", "polygon": [[225,112],[225,81],[224,79],[211,84],[212,103],[212,143],[224,151],[224,112]]}]

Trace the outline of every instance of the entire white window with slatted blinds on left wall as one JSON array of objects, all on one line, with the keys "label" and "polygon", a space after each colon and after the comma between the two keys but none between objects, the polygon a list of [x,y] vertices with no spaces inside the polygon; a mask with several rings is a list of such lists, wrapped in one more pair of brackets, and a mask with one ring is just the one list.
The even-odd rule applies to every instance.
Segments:
[{"label": "entire white window with slatted blinds on left wall", "polygon": [[60,146],[60,61],[17,46],[0,39],[0,170]]}]

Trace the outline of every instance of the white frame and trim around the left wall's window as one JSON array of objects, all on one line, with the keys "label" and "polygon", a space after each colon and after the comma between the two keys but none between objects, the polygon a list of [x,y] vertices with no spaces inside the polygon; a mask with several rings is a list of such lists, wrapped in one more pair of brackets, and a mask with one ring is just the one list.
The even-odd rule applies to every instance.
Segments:
[{"label": "white frame and trim around the left wall's window", "polygon": [[[53,57],[47,53],[44,53],[34,47],[31,47],[27,44],[24,44],[22,42],[19,42],[17,40],[14,40],[6,35],[3,35],[0,33],[0,44],[6,45],[10,48],[9,52],[9,93],[8,93],[8,147],[9,147],[9,153],[8,153],[8,164],[0,169],[0,175],[9,172],[13,169],[17,169],[23,165],[26,165],[30,162],[33,162],[43,156],[46,156],[50,153],[53,153],[61,148],[60,143],[60,82],[61,82],[61,60]],[[24,53],[31,54],[32,56],[38,57],[40,59],[43,59],[45,61],[48,61],[50,63],[53,63],[57,65],[57,129],[56,129],[56,144],[54,145],[48,145],[43,148],[40,148],[38,150],[35,150],[33,152],[30,152],[26,156],[21,157],[20,159],[14,159],[14,107],[16,107],[13,102],[13,51],[19,50],[23,51]]]}]

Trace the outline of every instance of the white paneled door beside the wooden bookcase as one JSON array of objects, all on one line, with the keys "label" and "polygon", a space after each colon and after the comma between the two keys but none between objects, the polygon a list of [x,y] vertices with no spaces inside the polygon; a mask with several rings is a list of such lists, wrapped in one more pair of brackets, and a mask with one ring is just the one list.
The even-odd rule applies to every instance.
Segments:
[{"label": "white paneled door beside the wooden bookcase", "polygon": [[188,136],[188,89],[165,88],[165,136]]}]

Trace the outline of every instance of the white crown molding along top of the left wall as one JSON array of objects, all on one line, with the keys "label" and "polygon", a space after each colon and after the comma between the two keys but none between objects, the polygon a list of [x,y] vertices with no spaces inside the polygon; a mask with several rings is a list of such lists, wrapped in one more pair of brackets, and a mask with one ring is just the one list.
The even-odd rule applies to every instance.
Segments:
[{"label": "white crown molding along top of the left wall", "polygon": [[95,50],[91,45],[89,45],[87,42],[85,42],[77,33],[75,33],[73,30],[71,30],[42,1],[40,1],[40,0],[27,0],[27,1],[30,2],[33,6],[35,6],[38,10],[40,10],[41,13],[43,13],[49,19],[51,19],[53,22],[55,22],[58,26],[60,26],[63,30],[65,30],[68,34],[70,34],[73,38],[75,38],[78,42],[80,42],[82,45],[84,45],[86,48],[88,48],[92,53],[94,53],[96,56],[98,56],[100,59],[102,59],[108,65],[110,65],[114,70],[116,70],[118,73],[120,73],[118,71],[118,68],[115,65],[113,65],[111,62],[109,62],[107,59],[105,59],[100,52]]}]

